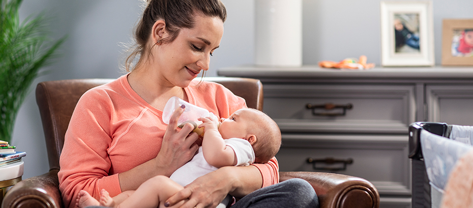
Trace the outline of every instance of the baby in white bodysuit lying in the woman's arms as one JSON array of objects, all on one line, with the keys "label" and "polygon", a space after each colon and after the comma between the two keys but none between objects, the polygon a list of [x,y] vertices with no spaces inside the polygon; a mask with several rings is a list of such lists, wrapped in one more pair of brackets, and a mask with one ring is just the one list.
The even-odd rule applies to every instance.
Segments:
[{"label": "baby in white bodysuit lying in the woman's arms", "polygon": [[[250,108],[235,111],[220,123],[213,117],[199,118],[204,128],[202,146],[194,158],[170,177],[158,175],[141,184],[136,191],[125,191],[113,198],[104,189],[100,201],[81,190],[76,204],[108,207],[165,207],[164,202],[197,177],[223,166],[246,166],[267,163],[279,151],[281,131],[267,114]],[[227,197],[217,207],[231,203]],[[179,207],[181,201],[171,207]]]}]

